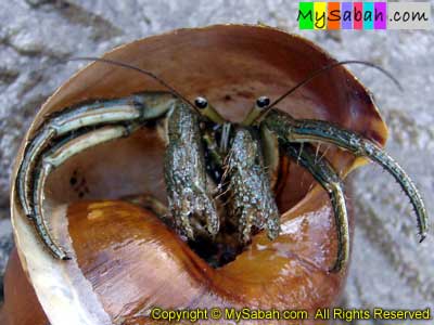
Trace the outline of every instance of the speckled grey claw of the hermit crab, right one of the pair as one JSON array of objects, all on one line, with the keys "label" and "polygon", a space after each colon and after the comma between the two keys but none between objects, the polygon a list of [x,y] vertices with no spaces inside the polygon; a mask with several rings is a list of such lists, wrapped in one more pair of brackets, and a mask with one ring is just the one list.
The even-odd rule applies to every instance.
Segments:
[{"label": "speckled grey claw of the hermit crab, right one of the pair", "polygon": [[243,242],[248,242],[253,226],[267,229],[270,239],[280,231],[280,213],[265,172],[258,136],[252,128],[239,127],[225,162],[229,177],[231,213],[237,217]]}]

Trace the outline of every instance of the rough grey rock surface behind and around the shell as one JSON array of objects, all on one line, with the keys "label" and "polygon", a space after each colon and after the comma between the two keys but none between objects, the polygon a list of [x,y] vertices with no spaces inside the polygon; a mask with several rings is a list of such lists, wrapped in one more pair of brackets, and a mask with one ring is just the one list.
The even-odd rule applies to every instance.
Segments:
[{"label": "rough grey rock surface behind and around the shell", "polygon": [[[261,22],[302,34],[336,58],[366,60],[392,72],[404,93],[378,72],[349,66],[375,94],[391,128],[387,151],[413,178],[433,216],[433,30],[299,32],[297,6],[297,1],[283,0],[1,0],[0,274],[12,240],[9,184],[18,144],[40,104],[80,65],[59,60],[101,55],[178,27]],[[357,224],[343,306],[433,309],[434,236],[417,244],[408,202],[380,168],[363,167],[354,182]]]}]

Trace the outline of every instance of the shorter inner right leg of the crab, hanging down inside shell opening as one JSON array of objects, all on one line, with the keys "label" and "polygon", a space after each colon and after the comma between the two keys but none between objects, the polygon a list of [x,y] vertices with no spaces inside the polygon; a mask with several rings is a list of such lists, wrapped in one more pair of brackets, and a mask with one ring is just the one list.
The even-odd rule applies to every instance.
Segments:
[{"label": "shorter inner right leg of the crab, hanging down inside shell opening", "polygon": [[284,153],[306,168],[329,193],[337,232],[337,257],[330,272],[339,272],[346,268],[349,255],[348,217],[342,181],[326,158],[316,159],[311,145],[305,144],[302,150],[299,144],[280,142]]}]

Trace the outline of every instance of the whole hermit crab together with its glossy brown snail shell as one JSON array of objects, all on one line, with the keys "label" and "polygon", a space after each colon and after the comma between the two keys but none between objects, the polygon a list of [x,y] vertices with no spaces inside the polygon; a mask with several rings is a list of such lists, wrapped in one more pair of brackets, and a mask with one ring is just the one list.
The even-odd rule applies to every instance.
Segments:
[{"label": "whole hermit crab together with its glossy brown snail shell", "polygon": [[53,324],[139,324],[153,306],[335,303],[352,227],[343,179],[366,158],[398,181],[425,236],[370,94],[310,42],[221,25],[94,61],[38,114],[13,183],[17,251]]}]

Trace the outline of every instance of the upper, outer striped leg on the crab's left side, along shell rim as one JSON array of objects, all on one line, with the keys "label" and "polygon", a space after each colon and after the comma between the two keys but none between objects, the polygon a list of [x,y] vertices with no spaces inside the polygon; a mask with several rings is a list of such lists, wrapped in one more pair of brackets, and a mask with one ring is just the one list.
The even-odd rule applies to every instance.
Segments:
[{"label": "upper, outer striped leg on the crab's left side, along shell rim", "polygon": [[156,118],[171,107],[175,98],[170,93],[149,92],[122,100],[104,101],[69,108],[51,118],[41,131],[27,144],[17,178],[18,196],[25,213],[31,214],[31,178],[41,152],[56,138],[84,127],[146,120]]}]

